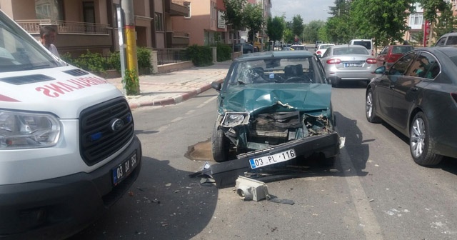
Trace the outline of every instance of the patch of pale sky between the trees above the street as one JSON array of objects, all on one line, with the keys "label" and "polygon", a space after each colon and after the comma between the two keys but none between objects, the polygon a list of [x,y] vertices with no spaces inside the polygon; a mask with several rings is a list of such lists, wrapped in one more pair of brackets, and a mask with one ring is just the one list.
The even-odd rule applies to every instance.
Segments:
[{"label": "patch of pale sky between the trees above the street", "polygon": [[303,24],[313,20],[326,21],[329,6],[335,6],[335,0],[271,0],[271,17],[286,14],[286,21],[292,21],[293,16],[300,15]]}]

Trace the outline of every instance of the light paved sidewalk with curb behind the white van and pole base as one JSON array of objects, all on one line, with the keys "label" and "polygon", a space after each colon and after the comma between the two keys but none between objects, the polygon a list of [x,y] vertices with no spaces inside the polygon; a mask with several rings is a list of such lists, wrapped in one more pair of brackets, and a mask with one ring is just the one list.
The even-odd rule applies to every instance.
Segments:
[{"label": "light paved sidewalk with curb behind the white van and pole base", "polygon": [[[140,94],[127,96],[127,100],[131,109],[179,104],[211,89],[211,82],[224,81],[231,62],[216,62],[212,66],[192,67],[166,74],[141,75]],[[120,77],[106,80],[124,92]]]}]

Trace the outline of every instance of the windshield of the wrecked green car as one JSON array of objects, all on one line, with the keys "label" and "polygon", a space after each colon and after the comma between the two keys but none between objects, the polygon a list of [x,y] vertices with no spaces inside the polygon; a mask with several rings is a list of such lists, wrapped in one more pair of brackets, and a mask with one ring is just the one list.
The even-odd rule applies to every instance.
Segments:
[{"label": "windshield of the wrecked green car", "polygon": [[312,56],[238,61],[230,84],[324,83],[323,73]]}]

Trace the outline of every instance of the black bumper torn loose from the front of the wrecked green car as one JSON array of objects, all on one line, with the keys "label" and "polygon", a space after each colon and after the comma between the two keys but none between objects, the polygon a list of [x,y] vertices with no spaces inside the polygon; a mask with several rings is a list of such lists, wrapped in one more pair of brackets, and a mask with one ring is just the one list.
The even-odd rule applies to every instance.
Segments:
[{"label": "black bumper torn loose from the front of the wrecked green car", "polygon": [[190,176],[210,176],[216,182],[217,188],[221,189],[228,186],[235,186],[238,176],[243,176],[245,171],[252,170],[249,159],[277,154],[288,149],[294,149],[297,156],[310,156],[313,153],[320,152],[328,158],[338,155],[339,147],[340,139],[336,132],[326,135],[309,136],[304,139],[289,141],[269,149],[242,154],[241,157],[238,156],[239,159],[213,164],[208,169],[203,169]]}]

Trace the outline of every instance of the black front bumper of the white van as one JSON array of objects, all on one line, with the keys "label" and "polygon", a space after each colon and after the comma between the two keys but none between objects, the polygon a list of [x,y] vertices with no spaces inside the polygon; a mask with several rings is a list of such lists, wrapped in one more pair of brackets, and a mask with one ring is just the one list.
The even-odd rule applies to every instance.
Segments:
[{"label": "black front bumper of the white van", "polygon": [[[114,186],[113,169],[136,153],[136,167]],[[141,143],[90,173],[0,185],[0,239],[64,239],[104,214],[139,176]]]}]

